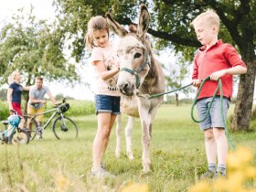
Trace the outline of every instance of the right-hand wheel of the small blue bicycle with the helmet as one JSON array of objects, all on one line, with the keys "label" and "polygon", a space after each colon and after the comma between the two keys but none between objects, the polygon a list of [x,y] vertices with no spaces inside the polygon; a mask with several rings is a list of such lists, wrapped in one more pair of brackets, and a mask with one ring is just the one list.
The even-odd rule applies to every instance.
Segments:
[{"label": "right-hand wheel of the small blue bicycle with the helmet", "polygon": [[9,144],[28,144],[29,135],[26,130],[17,128],[14,133],[9,136]]}]

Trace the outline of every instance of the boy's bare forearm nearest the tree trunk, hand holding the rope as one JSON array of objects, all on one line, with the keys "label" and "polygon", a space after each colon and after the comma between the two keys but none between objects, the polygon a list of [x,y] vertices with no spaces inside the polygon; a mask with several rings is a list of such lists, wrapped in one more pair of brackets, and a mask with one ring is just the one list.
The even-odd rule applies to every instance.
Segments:
[{"label": "boy's bare forearm nearest the tree trunk, hand holding the rope", "polygon": [[247,68],[237,65],[233,68],[218,70],[210,75],[210,80],[219,80],[224,75],[240,75],[247,72]]}]

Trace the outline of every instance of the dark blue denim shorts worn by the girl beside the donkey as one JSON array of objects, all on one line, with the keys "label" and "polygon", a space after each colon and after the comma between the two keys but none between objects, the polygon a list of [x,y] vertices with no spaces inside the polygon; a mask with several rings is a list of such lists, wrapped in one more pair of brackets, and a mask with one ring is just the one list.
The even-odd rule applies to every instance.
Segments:
[{"label": "dark blue denim shorts worn by the girl beside the donkey", "polygon": [[95,95],[95,112],[110,112],[120,114],[120,97],[109,95]]}]

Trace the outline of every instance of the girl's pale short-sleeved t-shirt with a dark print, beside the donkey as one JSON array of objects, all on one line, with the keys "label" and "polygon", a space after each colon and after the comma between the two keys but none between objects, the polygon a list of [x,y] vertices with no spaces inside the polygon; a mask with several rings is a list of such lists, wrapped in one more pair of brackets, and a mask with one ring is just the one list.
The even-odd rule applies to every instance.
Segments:
[{"label": "girl's pale short-sleeved t-shirt with a dark print, beside the donkey", "polygon": [[[115,65],[115,48],[110,45],[106,48],[96,47],[91,51],[90,62],[95,66],[95,61],[103,61],[107,70],[111,70],[112,66]],[[111,91],[109,88],[115,88],[117,83],[118,75],[114,75],[109,80],[102,80],[100,75],[96,72],[97,88],[95,94],[99,95],[110,95],[110,96],[120,96],[119,91]]]}]

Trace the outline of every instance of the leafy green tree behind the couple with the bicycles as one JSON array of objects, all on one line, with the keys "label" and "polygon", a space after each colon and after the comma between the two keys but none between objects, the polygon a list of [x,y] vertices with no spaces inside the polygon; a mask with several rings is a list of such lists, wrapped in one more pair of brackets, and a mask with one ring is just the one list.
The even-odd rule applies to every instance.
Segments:
[{"label": "leafy green tree behind the couple with the bicycles", "polygon": [[[75,65],[64,58],[60,30],[45,20],[37,21],[32,12],[33,7],[25,16],[20,9],[13,16],[14,22],[1,28],[0,85],[7,82],[14,70],[21,73],[27,85],[34,84],[37,76],[48,80],[69,80],[70,83],[79,80]],[[27,106],[27,102],[25,104]]]}]

